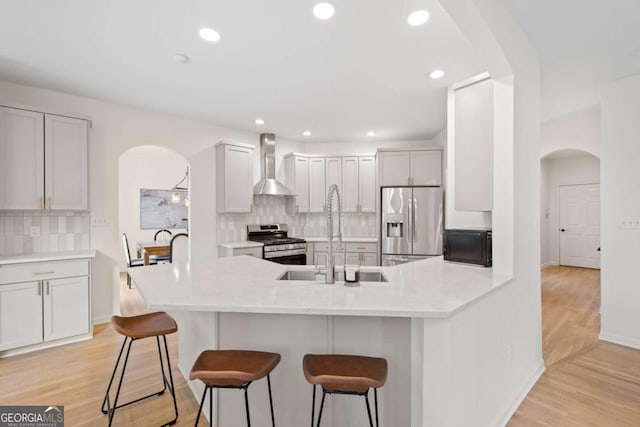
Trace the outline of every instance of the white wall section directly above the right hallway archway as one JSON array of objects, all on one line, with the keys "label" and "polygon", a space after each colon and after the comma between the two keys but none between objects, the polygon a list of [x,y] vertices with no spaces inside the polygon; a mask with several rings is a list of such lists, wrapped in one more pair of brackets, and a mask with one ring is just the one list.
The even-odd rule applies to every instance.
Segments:
[{"label": "white wall section directly above the right hallway archway", "polygon": [[580,150],[600,156],[600,107],[549,120],[542,124],[542,156],[558,150]]}]

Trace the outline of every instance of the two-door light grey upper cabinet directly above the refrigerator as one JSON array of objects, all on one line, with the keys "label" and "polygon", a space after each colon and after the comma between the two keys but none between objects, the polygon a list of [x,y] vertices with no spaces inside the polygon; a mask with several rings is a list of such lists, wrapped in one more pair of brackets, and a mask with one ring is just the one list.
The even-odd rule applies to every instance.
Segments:
[{"label": "two-door light grey upper cabinet directly above the refrigerator", "polygon": [[442,151],[379,151],[381,187],[400,185],[442,185]]}]

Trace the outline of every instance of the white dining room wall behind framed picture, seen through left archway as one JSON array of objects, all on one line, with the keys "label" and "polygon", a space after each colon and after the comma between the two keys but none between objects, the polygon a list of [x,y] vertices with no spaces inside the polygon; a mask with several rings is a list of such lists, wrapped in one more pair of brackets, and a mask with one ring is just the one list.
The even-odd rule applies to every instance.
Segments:
[{"label": "white dining room wall behind framed picture, seen through left archway", "polygon": [[[152,145],[134,147],[120,156],[118,235],[127,233],[132,257],[136,256],[136,242],[153,240],[153,235],[157,231],[140,228],[140,189],[170,190],[184,177],[186,170],[186,159],[175,151],[163,147]],[[181,187],[188,186],[188,180],[181,184]],[[175,230],[172,232],[176,233]],[[122,257],[120,267],[125,268]]]}]

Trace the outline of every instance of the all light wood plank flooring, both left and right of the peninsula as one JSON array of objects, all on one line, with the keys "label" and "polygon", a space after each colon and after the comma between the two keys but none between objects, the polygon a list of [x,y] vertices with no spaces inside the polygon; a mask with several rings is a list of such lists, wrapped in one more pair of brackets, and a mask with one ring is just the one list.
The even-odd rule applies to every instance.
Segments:
[{"label": "all light wood plank flooring, both left and right of the peninsula", "polygon": [[[549,267],[542,277],[547,371],[509,427],[640,426],[640,351],[597,339],[599,271]],[[121,295],[123,314],[144,312],[138,292],[127,289],[124,280]],[[168,338],[176,361],[177,335]],[[101,325],[91,341],[0,359],[0,405],[64,405],[67,426],[106,426],[100,405],[121,345],[122,337]],[[161,388],[153,340],[136,342],[129,363],[124,399]],[[175,363],[173,368],[177,425],[191,426],[198,403]],[[114,425],[154,426],[171,416],[171,398],[165,394],[119,410]],[[201,422],[205,425],[204,418]]]}]

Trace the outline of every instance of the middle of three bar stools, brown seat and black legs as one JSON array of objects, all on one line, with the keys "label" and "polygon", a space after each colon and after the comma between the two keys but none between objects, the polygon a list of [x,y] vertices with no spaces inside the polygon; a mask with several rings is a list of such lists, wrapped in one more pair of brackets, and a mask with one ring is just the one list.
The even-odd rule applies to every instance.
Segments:
[{"label": "middle of three bar stools, brown seat and black legs", "polygon": [[269,406],[271,407],[271,425],[275,427],[270,374],[278,363],[280,363],[278,353],[250,350],[205,350],[200,353],[189,375],[192,380],[200,380],[205,385],[195,425],[198,425],[207,391],[209,392],[209,425],[213,426],[212,390],[214,388],[237,388],[244,390],[247,426],[251,426],[248,388],[253,381],[266,376],[269,388]]}]

